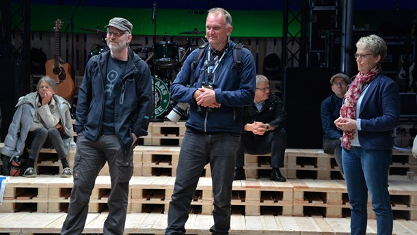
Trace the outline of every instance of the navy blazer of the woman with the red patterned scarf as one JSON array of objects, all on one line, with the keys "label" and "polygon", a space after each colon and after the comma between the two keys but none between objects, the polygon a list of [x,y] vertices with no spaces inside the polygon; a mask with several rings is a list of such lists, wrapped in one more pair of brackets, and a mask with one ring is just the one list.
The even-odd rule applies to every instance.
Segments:
[{"label": "navy blazer of the woman with the red patterned scarf", "polygon": [[359,118],[359,143],[363,149],[392,149],[392,130],[400,119],[400,95],[397,84],[390,77],[379,73],[369,84]]}]

